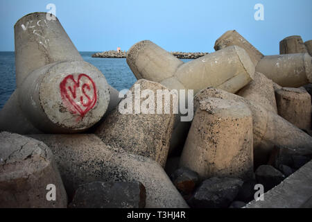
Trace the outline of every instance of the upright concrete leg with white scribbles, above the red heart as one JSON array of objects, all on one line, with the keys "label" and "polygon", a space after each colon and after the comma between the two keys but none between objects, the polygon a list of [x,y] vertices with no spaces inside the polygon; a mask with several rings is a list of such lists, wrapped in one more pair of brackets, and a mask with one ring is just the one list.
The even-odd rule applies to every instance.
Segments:
[{"label": "upright concrete leg with white scribbles, above the red heart", "polygon": [[58,18],[48,20],[47,16],[46,12],[34,12],[21,17],[14,26],[17,87],[44,65],[83,60]]}]

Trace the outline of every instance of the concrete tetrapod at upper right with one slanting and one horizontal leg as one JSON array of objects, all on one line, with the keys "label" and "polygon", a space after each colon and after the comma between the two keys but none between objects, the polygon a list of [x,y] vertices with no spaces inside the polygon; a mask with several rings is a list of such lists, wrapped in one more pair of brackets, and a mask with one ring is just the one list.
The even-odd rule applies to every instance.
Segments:
[{"label": "concrete tetrapod at upper right with one slanting and one horizontal leg", "polygon": [[245,49],[256,71],[283,87],[300,87],[312,81],[312,58],[308,53],[263,56],[236,31],[227,31],[216,40],[214,47],[218,50],[233,45]]}]

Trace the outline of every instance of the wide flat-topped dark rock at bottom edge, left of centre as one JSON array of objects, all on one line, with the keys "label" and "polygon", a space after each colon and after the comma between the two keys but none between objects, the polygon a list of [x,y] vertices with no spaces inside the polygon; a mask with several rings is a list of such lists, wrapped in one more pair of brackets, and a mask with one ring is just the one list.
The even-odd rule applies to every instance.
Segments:
[{"label": "wide flat-topped dark rock at bottom edge, left of centre", "polygon": [[71,208],[143,208],[146,190],[141,182],[91,182],[76,190]]}]

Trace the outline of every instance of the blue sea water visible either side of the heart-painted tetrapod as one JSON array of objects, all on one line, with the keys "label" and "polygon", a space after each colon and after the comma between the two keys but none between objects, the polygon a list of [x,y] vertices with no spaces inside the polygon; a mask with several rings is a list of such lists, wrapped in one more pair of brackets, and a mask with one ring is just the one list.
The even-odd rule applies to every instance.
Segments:
[{"label": "blue sea water visible either side of the heart-painted tetrapod", "polygon": [[[137,80],[125,58],[92,58],[95,52],[80,52],[86,62],[91,63],[105,75],[107,83],[118,90],[129,89]],[[189,60],[184,60],[187,62]],[[15,84],[15,53],[0,52],[0,109],[8,101]]]}]

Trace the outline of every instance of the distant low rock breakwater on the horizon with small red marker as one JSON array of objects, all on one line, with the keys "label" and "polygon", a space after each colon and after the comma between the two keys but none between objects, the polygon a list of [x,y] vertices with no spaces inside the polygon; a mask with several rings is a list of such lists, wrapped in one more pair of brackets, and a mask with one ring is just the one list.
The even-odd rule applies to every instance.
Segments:
[{"label": "distant low rock breakwater on the horizon with small red marker", "polygon": [[[208,54],[208,53],[200,53],[200,52],[184,53],[180,51],[174,51],[170,53],[179,59],[196,59],[196,58],[200,58]],[[93,58],[126,58],[126,56],[127,56],[127,51],[117,52],[115,50],[103,51],[102,53],[94,53],[92,55]]]}]

